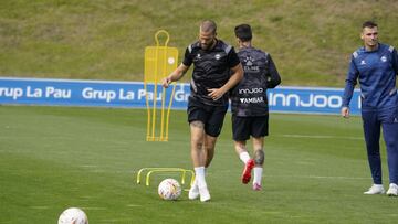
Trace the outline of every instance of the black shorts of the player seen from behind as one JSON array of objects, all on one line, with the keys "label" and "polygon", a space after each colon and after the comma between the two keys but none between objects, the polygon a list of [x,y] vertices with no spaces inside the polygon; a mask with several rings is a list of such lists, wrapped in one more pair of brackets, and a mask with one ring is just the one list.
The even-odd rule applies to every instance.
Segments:
[{"label": "black shorts of the player seen from behind", "polygon": [[232,115],[233,140],[245,141],[269,135],[269,115],[260,117],[238,117]]}]

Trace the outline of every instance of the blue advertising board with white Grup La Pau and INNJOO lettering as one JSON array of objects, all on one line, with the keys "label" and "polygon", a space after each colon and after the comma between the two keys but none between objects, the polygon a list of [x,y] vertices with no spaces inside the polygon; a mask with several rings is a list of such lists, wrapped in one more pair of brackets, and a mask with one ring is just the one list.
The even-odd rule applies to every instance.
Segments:
[{"label": "blue advertising board with white Grup La Pau and INNJOO lettering", "polygon": [[[161,93],[148,86],[149,102],[156,90],[157,107],[168,106],[171,88]],[[49,106],[103,106],[146,108],[144,83],[108,81],[72,81],[41,78],[0,77],[0,104],[3,105],[49,105]],[[189,84],[177,84],[172,108],[186,109],[190,89]],[[282,86],[268,90],[271,111],[339,114],[343,89]],[[356,89],[350,103],[350,111],[358,115],[360,109],[359,90]]]}]

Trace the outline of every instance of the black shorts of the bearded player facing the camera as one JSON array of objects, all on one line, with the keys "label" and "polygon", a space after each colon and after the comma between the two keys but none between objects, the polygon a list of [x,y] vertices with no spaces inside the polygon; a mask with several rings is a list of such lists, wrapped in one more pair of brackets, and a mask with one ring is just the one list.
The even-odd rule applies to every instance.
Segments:
[{"label": "black shorts of the bearded player facing the camera", "polygon": [[205,124],[205,132],[218,137],[221,132],[223,119],[228,110],[226,106],[211,106],[199,102],[196,98],[188,99],[188,122],[200,120]]}]

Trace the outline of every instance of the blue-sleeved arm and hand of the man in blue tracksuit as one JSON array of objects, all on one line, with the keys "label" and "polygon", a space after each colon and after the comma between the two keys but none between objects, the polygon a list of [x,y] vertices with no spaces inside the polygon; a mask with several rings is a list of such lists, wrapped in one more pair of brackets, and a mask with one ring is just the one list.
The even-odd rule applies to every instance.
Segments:
[{"label": "blue-sleeved arm and hand of the man in blue tracksuit", "polygon": [[359,75],[359,72],[355,65],[354,56],[353,56],[350,60],[350,63],[349,63],[349,68],[348,68],[347,78],[346,78],[346,85],[345,85],[344,95],[343,95],[343,106],[342,106],[341,114],[344,118],[349,117],[349,102],[353,98],[354,87],[357,84],[358,75]]}]

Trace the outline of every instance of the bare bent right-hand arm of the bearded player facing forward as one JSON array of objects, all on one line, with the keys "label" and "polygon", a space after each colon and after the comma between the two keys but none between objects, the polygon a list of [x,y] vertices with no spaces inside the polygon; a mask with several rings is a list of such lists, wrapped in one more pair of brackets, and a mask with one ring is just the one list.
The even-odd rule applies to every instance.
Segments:
[{"label": "bare bent right-hand arm of the bearded player facing forward", "polygon": [[243,78],[243,67],[242,64],[231,67],[232,75],[228,79],[228,82],[221,86],[221,88],[210,88],[208,89],[210,96],[213,100],[221,98],[229,89],[235,86]]}]

